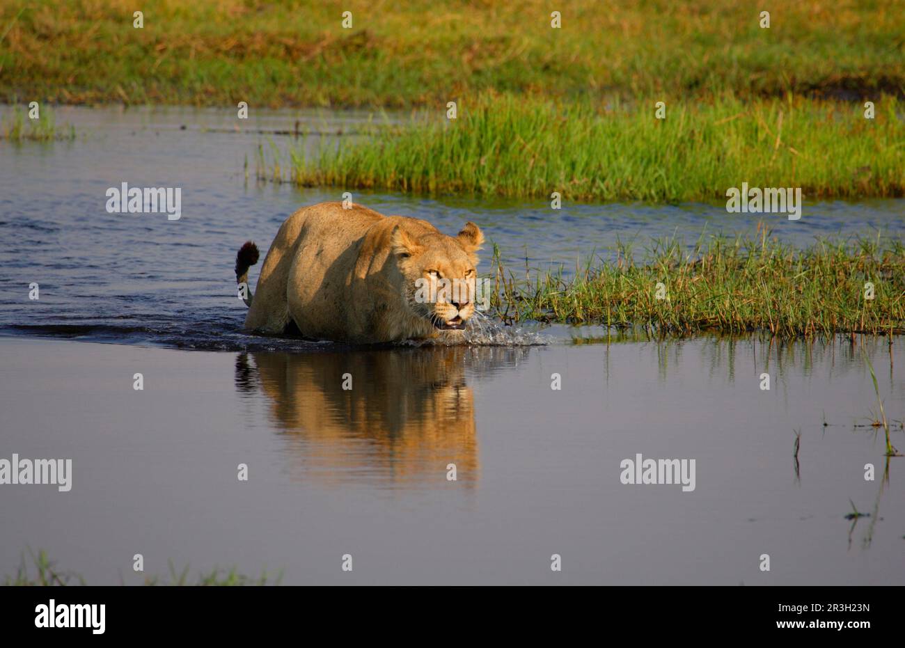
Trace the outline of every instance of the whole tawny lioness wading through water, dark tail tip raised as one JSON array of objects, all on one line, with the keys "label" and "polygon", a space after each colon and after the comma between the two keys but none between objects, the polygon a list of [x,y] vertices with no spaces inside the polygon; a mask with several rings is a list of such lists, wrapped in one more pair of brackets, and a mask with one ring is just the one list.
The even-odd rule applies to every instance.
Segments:
[{"label": "whole tawny lioness wading through water, dark tail tip raised", "polygon": [[[249,291],[245,329],[353,343],[462,337],[474,314],[473,291],[453,300],[424,300],[425,281],[475,279],[484,235],[466,223],[457,236],[418,218],[385,216],[367,207],[321,203],[303,207],[280,227]],[[235,276],[248,281],[258,261],[249,241],[236,255]]]}]

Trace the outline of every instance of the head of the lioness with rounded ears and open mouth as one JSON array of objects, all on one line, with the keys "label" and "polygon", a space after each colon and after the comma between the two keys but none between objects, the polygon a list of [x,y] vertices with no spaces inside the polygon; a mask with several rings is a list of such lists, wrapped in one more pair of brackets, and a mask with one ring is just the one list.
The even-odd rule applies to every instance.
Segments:
[{"label": "head of the lioness with rounded ears and open mouth", "polygon": [[464,329],[474,315],[476,253],[483,242],[484,234],[471,222],[457,236],[414,235],[396,225],[392,253],[405,280],[405,308],[435,329]]}]

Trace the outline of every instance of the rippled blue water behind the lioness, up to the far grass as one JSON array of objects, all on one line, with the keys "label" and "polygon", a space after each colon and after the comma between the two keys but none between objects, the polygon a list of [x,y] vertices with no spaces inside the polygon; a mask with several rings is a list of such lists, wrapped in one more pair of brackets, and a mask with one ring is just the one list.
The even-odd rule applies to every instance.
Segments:
[{"label": "rippled blue water behind the lioness, up to the far grass", "polygon": [[[368,116],[258,111],[243,124],[248,133],[229,132],[238,120],[223,110],[61,107],[55,118],[58,124],[74,124],[80,138],[52,145],[0,142],[5,243],[0,285],[6,296],[0,304],[0,333],[243,348],[261,341],[238,334],[245,310],[236,299],[233,275],[239,246],[252,239],[263,253],[286,216],[301,205],[340,200],[343,193],[256,182],[254,151],[267,142],[258,131],[291,130],[299,120],[302,129],[355,132]],[[282,148],[292,142],[271,139]],[[309,146],[316,147],[317,139],[308,138]],[[107,213],[105,192],[122,182],[181,187],[182,217],[168,221],[166,214]],[[758,220],[757,214],[727,214],[723,205],[567,203],[553,212],[538,201],[353,196],[383,214],[425,218],[445,233],[473,220],[488,238],[479,272],[489,270],[491,242],[518,272],[526,256],[531,268],[563,263],[569,272],[576,262],[605,254],[617,237],[635,240],[636,248],[649,235],[678,233],[691,242],[705,227],[712,233],[753,233]],[[777,236],[795,244],[811,243],[816,235],[880,231],[900,236],[905,200],[805,205],[800,221],[781,215],[767,219]],[[260,264],[252,268],[252,281],[259,269]],[[39,301],[26,299],[33,281],[40,285]]]}]

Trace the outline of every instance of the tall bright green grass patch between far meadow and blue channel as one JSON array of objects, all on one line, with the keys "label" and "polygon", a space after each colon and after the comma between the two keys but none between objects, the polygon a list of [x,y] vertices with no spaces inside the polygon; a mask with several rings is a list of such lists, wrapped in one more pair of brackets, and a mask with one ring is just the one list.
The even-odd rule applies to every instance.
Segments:
[{"label": "tall bright green grass patch between far meadow and blue channel", "polygon": [[788,98],[604,107],[484,94],[457,119],[417,119],[367,140],[274,154],[261,176],[302,186],[426,194],[682,202],[729,187],[801,187],[807,199],[905,195],[905,104]]}]

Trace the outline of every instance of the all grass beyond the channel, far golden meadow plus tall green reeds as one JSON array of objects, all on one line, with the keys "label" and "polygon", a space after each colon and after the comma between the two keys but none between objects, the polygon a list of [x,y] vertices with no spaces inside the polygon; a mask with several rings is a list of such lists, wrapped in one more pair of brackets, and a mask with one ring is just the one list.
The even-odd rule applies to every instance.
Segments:
[{"label": "all grass beyond the channel, far golden meadow plus tall green reeds", "polygon": [[[678,202],[747,181],[812,199],[905,195],[903,108],[891,99],[905,95],[900,1],[764,8],[769,29],[738,0],[11,0],[0,99],[420,107],[431,118],[262,171],[301,185]],[[460,117],[446,123],[450,100]],[[653,119],[660,100],[664,120]],[[862,119],[864,100],[877,119]]]}]

